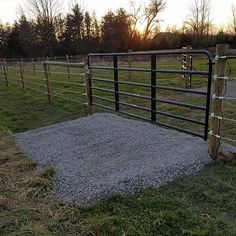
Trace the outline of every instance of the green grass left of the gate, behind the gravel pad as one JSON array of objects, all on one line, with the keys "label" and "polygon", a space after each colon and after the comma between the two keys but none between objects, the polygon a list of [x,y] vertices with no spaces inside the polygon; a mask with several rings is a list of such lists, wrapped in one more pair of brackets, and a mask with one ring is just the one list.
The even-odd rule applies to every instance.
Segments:
[{"label": "green grass left of the gate, behind the gravel pad", "polygon": [[[3,77],[0,77],[0,120],[1,124],[11,131],[21,132],[86,115],[81,89],[78,92],[80,96],[76,98],[64,92],[60,98],[53,98],[52,103],[49,104],[42,75],[37,74],[33,79],[28,77],[28,74],[25,75],[25,93],[17,76],[16,71],[9,69],[8,87],[5,86]],[[40,82],[33,81],[36,79]],[[31,88],[38,89],[40,92]],[[74,98],[78,102],[65,100],[64,96],[69,99]]]}]

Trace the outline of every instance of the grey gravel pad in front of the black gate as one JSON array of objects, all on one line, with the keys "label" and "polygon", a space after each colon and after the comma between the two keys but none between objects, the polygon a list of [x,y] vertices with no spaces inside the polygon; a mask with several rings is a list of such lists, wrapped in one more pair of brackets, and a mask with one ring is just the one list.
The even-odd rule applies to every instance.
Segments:
[{"label": "grey gravel pad in front of the black gate", "polygon": [[159,187],[209,162],[206,142],[107,113],[16,134],[39,167],[56,169],[55,192],[81,205]]}]

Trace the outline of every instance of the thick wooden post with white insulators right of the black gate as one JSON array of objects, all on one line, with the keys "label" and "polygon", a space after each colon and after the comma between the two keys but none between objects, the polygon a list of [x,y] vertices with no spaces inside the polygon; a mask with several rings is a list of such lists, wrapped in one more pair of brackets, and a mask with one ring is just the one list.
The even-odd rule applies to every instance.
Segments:
[{"label": "thick wooden post with white insulators right of the black gate", "polygon": [[[224,56],[226,50],[228,49],[227,44],[216,45],[216,64],[215,64],[215,77],[213,84],[213,96],[223,97],[225,93],[225,74],[227,59],[219,58]],[[222,117],[223,100],[222,99],[212,99],[212,113],[215,116]],[[217,117],[211,118],[211,132],[209,136],[209,153],[213,158],[217,158],[218,150],[220,147],[220,132],[221,132],[221,120]]]}]

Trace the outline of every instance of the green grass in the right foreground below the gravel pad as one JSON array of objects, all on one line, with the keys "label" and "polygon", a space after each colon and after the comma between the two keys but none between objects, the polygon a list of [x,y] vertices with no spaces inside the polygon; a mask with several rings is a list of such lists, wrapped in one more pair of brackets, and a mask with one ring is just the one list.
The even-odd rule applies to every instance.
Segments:
[{"label": "green grass in the right foreground below the gravel pad", "polygon": [[101,235],[109,224],[111,235],[234,235],[235,167],[215,163],[159,190],[114,197],[86,211],[88,222]]}]

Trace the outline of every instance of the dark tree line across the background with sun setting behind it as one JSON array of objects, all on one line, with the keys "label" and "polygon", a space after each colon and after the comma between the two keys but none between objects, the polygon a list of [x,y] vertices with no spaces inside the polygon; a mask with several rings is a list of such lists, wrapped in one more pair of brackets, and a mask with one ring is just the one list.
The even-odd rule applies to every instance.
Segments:
[{"label": "dark tree line across the background with sun setting behind it", "polygon": [[165,0],[149,0],[147,4],[130,1],[129,10],[108,11],[98,19],[95,12],[79,4],[72,5],[63,15],[60,0],[28,0],[13,25],[0,24],[0,57],[79,55],[186,45],[209,48],[217,43],[236,46],[235,6],[231,24],[219,30],[211,20],[211,1],[193,0],[182,27],[168,27],[160,32],[160,13],[165,8]]}]

